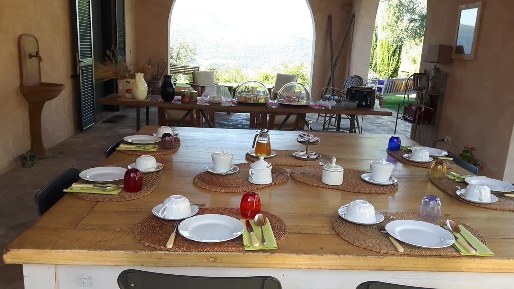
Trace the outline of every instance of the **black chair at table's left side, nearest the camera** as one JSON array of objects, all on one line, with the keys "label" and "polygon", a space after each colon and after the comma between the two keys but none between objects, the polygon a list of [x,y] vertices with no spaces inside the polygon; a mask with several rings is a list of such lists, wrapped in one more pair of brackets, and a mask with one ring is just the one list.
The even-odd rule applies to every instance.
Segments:
[{"label": "black chair at table's left side, nearest the camera", "polygon": [[69,188],[71,184],[79,179],[79,169],[71,168],[51,180],[43,189],[34,196],[35,208],[38,214],[42,215],[48,211],[57,201],[61,200],[66,194],[64,189]]}]

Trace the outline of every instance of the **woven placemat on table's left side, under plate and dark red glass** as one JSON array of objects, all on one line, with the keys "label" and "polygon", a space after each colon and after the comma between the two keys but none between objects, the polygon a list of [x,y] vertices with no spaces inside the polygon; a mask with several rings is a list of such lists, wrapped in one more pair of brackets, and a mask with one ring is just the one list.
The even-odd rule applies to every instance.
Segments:
[{"label": "woven placemat on table's left side, under plate and dark red glass", "polygon": [[[117,195],[105,195],[105,194],[91,194],[91,193],[73,193],[75,196],[82,198],[82,200],[93,201],[93,202],[123,202],[135,200],[136,198],[143,197],[150,194],[162,177],[162,170],[153,173],[143,173],[143,187],[139,192],[130,193],[124,189]],[[78,180],[77,183],[91,184],[83,179]],[[112,182],[115,185],[123,185],[123,179]]]}]

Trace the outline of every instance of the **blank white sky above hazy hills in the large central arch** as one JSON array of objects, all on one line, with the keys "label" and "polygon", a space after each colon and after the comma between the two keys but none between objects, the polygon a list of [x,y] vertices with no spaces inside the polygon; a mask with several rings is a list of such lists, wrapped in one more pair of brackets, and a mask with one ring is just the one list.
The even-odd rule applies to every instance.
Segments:
[{"label": "blank white sky above hazy hills in the large central arch", "polygon": [[270,31],[291,33],[313,39],[313,24],[306,0],[177,0],[172,9],[174,21],[191,25],[230,27],[222,33],[255,33],[265,41]]}]

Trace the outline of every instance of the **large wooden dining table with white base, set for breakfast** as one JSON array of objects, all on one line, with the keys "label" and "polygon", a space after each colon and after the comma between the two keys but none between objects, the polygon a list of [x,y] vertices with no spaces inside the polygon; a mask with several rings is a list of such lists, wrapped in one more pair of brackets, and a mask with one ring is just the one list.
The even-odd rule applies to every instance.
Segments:
[{"label": "large wooden dining table with white base, set for breakfast", "polygon": [[[151,135],[156,129],[146,126],[138,133]],[[285,289],[353,289],[372,280],[429,288],[512,288],[514,284],[513,213],[471,206],[448,196],[430,182],[429,169],[403,164],[387,155],[388,135],[317,133],[321,143],[315,149],[336,157],[345,169],[369,171],[371,160],[386,158],[395,164],[395,193],[340,191],[293,178],[256,191],[262,210],[277,215],[287,226],[288,236],[276,250],[175,252],[145,247],[136,239],[134,228],[166,197],[181,194],[191,203],[207,207],[238,208],[243,195],[201,189],[192,180],[211,164],[211,153],[221,148],[234,154],[234,164],[247,162],[245,153],[251,148],[254,132],[173,130],[179,133],[180,147],[175,153],[156,156],[166,166],[151,194],[132,201],[102,203],[68,193],[6,247],[3,260],[23,264],[26,289],[112,289],[117,287],[119,273],[127,268],[190,276],[273,276]],[[297,134],[271,131],[271,148],[304,148],[295,141]],[[416,145],[409,139],[401,141],[402,145]],[[126,167],[135,158],[117,151],[98,165]],[[273,162],[272,158],[269,161]],[[468,173],[460,167],[451,170]],[[440,198],[441,218],[476,229],[495,256],[381,254],[356,247],[334,231],[338,208],[353,200],[369,201],[381,212],[417,213],[427,194]]]}]

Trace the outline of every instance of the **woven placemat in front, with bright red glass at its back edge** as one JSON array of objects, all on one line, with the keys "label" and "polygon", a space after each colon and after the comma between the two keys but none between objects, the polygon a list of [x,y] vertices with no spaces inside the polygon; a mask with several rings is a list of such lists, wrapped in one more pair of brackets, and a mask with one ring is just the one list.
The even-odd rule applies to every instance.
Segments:
[{"label": "woven placemat in front, with bright red glass at its back edge", "polygon": [[[284,221],[272,213],[265,211],[261,211],[261,213],[268,218],[277,245],[284,242],[287,237],[287,227]],[[203,214],[222,214],[241,219],[240,209],[236,208],[200,208],[197,215]],[[168,249],[166,248],[166,243],[168,243],[168,239],[173,232],[174,225],[175,222],[173,221],[165,221],[154,215],[149,215],[137,224],[134,233],[136,239],[143,243],[143,245],[159,250],[179,252],[231,252],[245,250],[243,236],[225,242],[203,243],[186,239],[178,231],[173,248]]]}]

